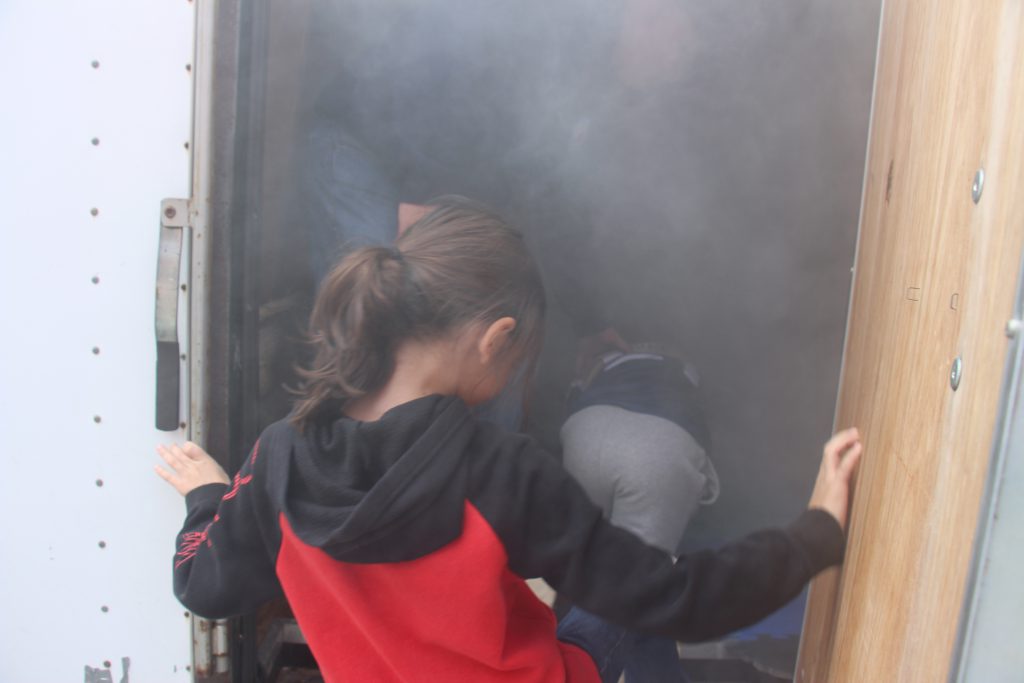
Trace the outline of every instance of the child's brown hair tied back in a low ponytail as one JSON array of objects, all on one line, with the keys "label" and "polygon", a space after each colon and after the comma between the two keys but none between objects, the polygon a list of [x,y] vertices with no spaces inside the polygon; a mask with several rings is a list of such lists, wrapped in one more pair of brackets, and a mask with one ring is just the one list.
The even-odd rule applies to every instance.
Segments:
[{"label": "child's brown hair tied back in a low ponytail", "polygon": [[544,337],[545,295],[522,234],[486,207],[442,197],[394,246],[345,256],[321,283],[309,322],[310,365],[291,415],[303,428],[340,415],[382,387],[407,340],[441,338],[472,323],[516,321],[510,338],[532,372]]}]

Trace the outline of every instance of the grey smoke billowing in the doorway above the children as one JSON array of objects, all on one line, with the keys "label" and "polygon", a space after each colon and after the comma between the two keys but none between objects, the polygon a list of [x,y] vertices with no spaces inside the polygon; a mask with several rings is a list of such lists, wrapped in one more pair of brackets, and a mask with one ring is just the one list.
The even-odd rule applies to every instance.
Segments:
[{"label": "grey smoke billowing in the doorway above the children", "polygon": [[573,325],[603,313],[700,370],[723,493],[697,536],[806,504],[839,379],[879,0],[268,5],[267,225],[295,223],[296,150],[334,121],[406,201],[465,194],[527,232],[557,309],[542,436]]}]

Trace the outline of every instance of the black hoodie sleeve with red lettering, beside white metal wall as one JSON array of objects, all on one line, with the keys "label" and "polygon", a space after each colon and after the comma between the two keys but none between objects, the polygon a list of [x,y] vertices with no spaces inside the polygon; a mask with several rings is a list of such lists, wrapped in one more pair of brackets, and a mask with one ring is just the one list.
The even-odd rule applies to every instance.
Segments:
[{"label": "black hoodie sleeve with red lettering, beside white metal wall", "polygon": [[257,480],[258,453],[257,443],[229,485],[206,484],[185,496],[187,513],[174,555],[174,594],[200,616],[244,614],[282,593],[265,541],[272,513]]}]

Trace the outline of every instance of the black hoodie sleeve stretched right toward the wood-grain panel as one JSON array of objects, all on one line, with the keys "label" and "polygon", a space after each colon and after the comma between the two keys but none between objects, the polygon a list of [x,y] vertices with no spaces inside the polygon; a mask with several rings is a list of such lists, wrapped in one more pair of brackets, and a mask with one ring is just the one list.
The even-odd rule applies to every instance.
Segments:
[{"label": "black hoodie sleeve stretched right toward the wood-grain panel", "polygon": [[474,504],[505,544],[510,568],[544,578],[574,604],[625,627],[681,641],[718,638],[759,622],[842,561],[839,523],[809,510],[787,528],[674,562],[605,521],[561,465],[530,442],[500,451],[478,468]]}]

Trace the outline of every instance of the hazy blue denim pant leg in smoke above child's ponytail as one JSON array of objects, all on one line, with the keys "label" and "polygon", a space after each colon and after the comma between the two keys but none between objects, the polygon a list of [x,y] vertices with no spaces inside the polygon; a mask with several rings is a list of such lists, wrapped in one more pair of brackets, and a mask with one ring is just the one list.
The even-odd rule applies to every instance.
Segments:
[{"label": "hazy blue denim pant leg in smoke above child's ponytail", "polygon": [[333,121],[313,124],[298,163],[316,283],[352,248],[391,244],[398,191],[379,160]]}]

